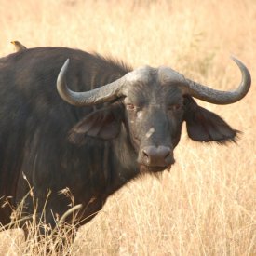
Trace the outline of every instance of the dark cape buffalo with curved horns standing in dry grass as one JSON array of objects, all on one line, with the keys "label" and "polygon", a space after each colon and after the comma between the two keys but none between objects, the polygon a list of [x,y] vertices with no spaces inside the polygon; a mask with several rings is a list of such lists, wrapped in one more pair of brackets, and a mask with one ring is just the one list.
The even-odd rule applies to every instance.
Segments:
[{"label": "dark cape buffalo with curved horns standing in dry grass", "polygon": [[[183,122],[192,140],[235,141],[238,131],[194,100],[230,104],[247,94],[249,71],[233,60],[242,81],[236,90],[219,91],[166,66],[132,69],[65,47],[0,59],[0,203],[11,196],[16,207],[33,188],[24,211],[32,214],[35,204],[54,226],[56,215],[70,208],[60,194],[69,188],[84,224],[124,184],[174,164]],[[0,208],[0,222],[10,214],[7,204]]]}]

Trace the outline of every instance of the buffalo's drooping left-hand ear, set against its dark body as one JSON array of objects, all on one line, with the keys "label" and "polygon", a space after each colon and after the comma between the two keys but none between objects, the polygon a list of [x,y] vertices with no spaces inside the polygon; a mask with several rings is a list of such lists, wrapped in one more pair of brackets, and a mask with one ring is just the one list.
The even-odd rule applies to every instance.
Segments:
[{"label": "buffalo's drooping left-hand ear, set against its dark body", "polygon": [[96,110],[70,130],[68,140],[81,145],[87,141],[87,136],[102,140],[115,139],[121,128],[122,116],[122,108],[118,103]]}]

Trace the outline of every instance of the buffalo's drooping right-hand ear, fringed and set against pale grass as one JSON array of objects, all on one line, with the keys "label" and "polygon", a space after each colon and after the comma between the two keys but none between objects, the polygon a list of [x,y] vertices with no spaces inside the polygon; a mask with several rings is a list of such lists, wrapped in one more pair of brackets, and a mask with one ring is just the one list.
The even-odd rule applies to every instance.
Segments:
[{"label": "buffalo's drooping right-hand ear, fringed and set against pale grass", "polygon": [[192,97],[185,97],[185,114],[188,136],[194,141],[236,141],[239,133],[231,128],[219,115],[196,104]]}]

